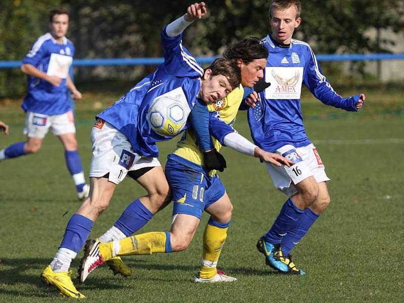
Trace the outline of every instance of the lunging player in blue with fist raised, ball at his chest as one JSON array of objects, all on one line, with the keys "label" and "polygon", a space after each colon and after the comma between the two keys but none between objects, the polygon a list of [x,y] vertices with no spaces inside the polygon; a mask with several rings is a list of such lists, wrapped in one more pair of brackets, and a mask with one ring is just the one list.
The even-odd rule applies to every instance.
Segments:
[{"label": "lunging player in blue with fist raised, ball at his chest", "polygon": [[147,195],[131,204],[141,219],[140,225],[171,200],[171,191],[157,159],[156,142],[173,136],[162,136],[151,129],[147,112],[153,101],[171,97],[185,100],[192,108],[198,99],[211,103],[240,84],[241,74],[236,63],[217,59],[204,70],[182,45],[182,31],[205,15],[205,4],[194,4],[183,17],[167,25],[161,34],[165,62],[97,115],[91,131],[93,158],[89,197],[71,217],[55,258],[41,274],[43,282],[55,286],[61,294],[84,297],[71,281],[71,261],[87,239],[93,222],[108,207],[115,187],[126,175],[147,190]]}]

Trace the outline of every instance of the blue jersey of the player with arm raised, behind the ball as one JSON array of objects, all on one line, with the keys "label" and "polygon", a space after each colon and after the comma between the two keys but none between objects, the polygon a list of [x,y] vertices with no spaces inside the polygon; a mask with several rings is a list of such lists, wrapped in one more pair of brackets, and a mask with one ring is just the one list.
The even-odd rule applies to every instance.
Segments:
[{"label": "blue jersey of the player with arm raised, behind the ball", "polygon": [[[200,88],[199,78],[204,72],[182,45],[182,34],[169,37],[164,28],[161,39],[164,63],[153,74],[132,87],[114,105],[97,115],[120,130],[136,153],[148,157],[159,156],[157,141],[174,137],[159,135],[150,128],[147,111],[151,103],[165,95],[185,100],[192,109]],[[188,123],[185,128],[187,127]]]}]

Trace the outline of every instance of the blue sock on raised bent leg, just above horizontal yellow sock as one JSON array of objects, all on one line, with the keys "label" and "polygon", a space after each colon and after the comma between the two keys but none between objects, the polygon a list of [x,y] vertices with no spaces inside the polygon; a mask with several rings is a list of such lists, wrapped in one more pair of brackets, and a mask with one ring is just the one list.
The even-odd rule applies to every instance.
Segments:
[{"label": "blue sock on raised bent leg, just above horizontal yellow sock", "polygon": [[142,228],[154,216],[139,199],[134,200],[115,222],[114,226],[126,236]]}]

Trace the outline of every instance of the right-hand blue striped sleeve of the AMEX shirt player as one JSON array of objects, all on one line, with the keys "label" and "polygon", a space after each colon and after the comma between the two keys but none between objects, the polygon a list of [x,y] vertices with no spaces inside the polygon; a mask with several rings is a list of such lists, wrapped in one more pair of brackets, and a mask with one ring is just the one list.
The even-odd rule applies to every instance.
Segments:
[{"label": "right-hand blue striped sleeve of the AMEX shirt player", "polygon": [[343,98],[334,91],[330,82],[323,75],[316,56],[310,47],[308,47],[307,62],[303,81],[316,98],[322,103],[335,108],[349,112],[358,111],[355,105],[358,102],[359,97],[353,96]]}]

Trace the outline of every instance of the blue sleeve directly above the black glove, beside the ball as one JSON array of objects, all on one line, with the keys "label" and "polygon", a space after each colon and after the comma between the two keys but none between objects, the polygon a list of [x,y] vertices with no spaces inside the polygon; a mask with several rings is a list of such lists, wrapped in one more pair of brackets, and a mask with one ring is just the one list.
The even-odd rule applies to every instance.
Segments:
[{"label": "blue sleeve directly above the black glove, beside the ball", "polygon": [[209,111],[206,104],[197,99],[189,114],[190,122],[195,131],[198,147],[201,151],[213,149],[211,135],[209,133]]}]

